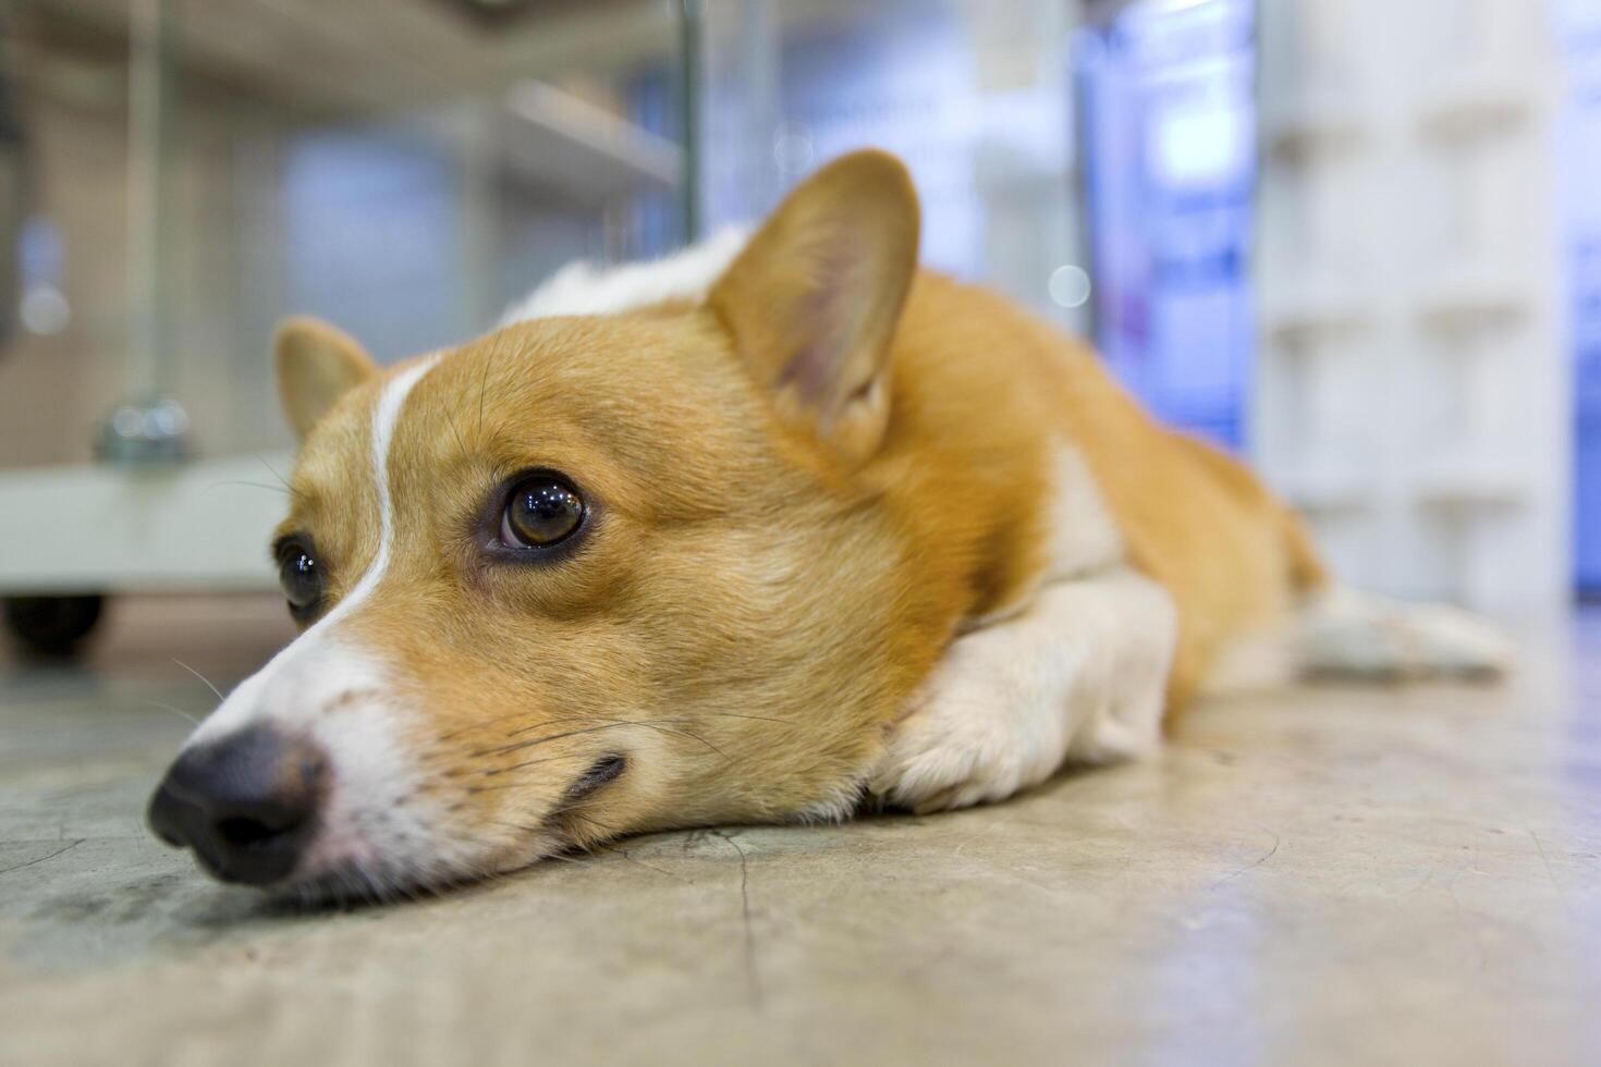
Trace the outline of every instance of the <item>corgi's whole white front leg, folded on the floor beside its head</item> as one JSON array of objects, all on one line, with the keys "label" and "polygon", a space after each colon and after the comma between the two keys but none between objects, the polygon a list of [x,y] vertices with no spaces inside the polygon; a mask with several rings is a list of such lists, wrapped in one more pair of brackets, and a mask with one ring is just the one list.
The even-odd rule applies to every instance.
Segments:
[{"label": "corgi's whole white front leg, folded on the floor beside its head", "polygon": [[1150,752],[1175,638],[1172,598],[1129,568],[1047,585],[1023,614],[951,643],[869,787],[941,811],[1004,800],[1065,761]]}]

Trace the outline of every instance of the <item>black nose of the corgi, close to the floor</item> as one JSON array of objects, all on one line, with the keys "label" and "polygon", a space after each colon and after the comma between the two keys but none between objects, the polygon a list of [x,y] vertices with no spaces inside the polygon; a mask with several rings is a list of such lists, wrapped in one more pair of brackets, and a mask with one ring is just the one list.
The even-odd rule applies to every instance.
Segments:
[{"label": "black nose of the corgi, close to the floor", "polygon": [[314,745],[250,726],[178,757],[150,798],[150,829],[223,881],[279,881],[311,841],[323,777]]}]

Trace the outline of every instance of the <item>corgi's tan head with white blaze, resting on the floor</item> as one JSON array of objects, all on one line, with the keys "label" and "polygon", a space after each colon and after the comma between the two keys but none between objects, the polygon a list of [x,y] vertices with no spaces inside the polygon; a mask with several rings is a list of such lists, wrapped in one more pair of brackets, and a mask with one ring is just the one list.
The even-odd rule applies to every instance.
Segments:
[{"label": "corgi's tan head with white blaze, resting on the floor", "polygon": [[703,299],[379,370],[287,325],[301,635],[152,801],[215,873],[383,893],[623,832],[850,808],[949,619],[869,470],[903,168],[800,186]]}]

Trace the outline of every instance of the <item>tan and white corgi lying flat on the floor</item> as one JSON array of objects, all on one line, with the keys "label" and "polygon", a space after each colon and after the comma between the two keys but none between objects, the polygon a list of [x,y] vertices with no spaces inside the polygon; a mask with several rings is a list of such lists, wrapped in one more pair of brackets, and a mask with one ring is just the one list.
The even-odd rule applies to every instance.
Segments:
[{"label": "tan and white corgi lying flat on the floor", "polygon": [[917,232],[866,150],[752,234],[564,270],[455,349],[379,368],[287,323],[301,633],[195,729],[154,832],[227,881],[386,896],[623,833],[997,801],[1151,752],[1241,649],[1505,664],[1473,619],[1337,592],[1244,467],[919,270]]}]

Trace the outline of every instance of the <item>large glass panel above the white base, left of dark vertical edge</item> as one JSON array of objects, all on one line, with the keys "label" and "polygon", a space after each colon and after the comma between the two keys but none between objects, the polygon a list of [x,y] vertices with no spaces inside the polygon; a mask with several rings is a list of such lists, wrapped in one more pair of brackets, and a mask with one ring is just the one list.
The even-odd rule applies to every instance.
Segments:
[{"label": "large glass panel above the white base, left of dark vertical edge", "polygon": [[[575,256],[680,240],[672,5],[8,11],[3,467],[88,459],[118,403],[157,395],[187,411],[197,454],[287,446],[267,366],[282,315],[322,315],[392,360],[493,325]],[[163,91],[141,122],[154,98],[131,58],[152,13]]]}]

